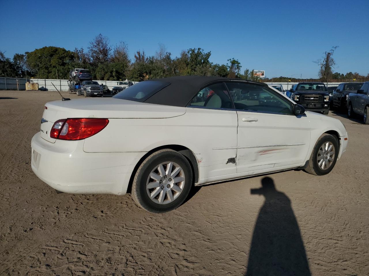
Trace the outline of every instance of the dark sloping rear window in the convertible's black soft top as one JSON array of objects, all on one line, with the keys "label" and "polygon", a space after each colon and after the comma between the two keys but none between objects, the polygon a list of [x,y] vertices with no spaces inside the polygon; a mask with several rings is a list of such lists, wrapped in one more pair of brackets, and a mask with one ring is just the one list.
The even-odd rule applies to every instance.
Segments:
[{"label": "dark sloping rear window in the convertible's black soft top", "polygon": [[146,99],[170,85],[170,82],[164,81],[141,81],[138,84],[129,86],[122,90],[113,98],[122,100],[134,100],[135,102],[144,102]]}]

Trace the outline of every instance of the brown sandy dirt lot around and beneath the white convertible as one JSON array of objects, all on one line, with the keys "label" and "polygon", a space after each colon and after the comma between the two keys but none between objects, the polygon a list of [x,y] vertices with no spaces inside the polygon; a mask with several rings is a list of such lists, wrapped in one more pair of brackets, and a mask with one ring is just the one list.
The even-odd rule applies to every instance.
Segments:
[{"label": "brown sandy dirt lot around and beneath the white convertible", "polygon": [[[208,185],[153,215],[129,195],[56,194],[32,173],[31,138],[59,98],[0,91],[0,275],[369,275],[369,126],[359,120],[329,115],[349,147],[327,176]],[[251,194],[262,181],[269,190]]]}]

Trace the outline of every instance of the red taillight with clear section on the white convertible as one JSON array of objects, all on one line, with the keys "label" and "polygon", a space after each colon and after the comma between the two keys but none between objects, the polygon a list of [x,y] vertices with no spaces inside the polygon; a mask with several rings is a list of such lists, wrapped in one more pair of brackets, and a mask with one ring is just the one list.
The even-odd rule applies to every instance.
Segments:
[{"label": "red taillight with clear section on the white convertible", "polygon": [[62,140],[86,139],[103,130],[108,123],[108,119],[96,118],[58,120],[51,128],[50,137]]}]

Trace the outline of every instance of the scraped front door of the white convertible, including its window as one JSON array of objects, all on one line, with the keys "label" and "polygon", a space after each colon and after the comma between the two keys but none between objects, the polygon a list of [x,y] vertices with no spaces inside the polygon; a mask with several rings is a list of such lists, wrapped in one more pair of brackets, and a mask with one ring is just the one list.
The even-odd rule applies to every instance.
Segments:
[{"label": "scraped front door of the white convertible, including its window", "polygon": [[259,84],[227,82],[238,116],[237,173],[300,166],[310,145],[310,121],[294,104]]}]

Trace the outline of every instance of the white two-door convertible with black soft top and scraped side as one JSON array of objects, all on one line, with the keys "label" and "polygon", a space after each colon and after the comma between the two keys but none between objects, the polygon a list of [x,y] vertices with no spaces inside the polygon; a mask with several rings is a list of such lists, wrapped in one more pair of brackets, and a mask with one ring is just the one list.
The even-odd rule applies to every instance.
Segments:
[{"label": "white two-door convertible with black soft top and scraped side", "polygon": [[142,208],[166,212],[193,185],[294,168],[327,174],[347,143],[341,121],[265,84],[184,76],[46,103],[31,165],[57,191],[131,192]]}]

